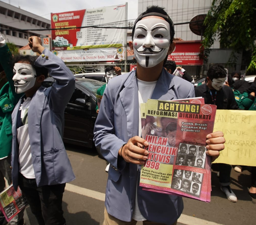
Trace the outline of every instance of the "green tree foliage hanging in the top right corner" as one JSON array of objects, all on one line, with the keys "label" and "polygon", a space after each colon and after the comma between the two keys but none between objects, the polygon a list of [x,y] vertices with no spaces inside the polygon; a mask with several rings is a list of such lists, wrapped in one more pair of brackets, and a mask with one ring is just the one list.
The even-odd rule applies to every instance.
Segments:
[{"label": "green tree foliage hanging in the top right corner", "polygon": [[206,57],[218,37],[221,48],[232,48],[234,53],[250,51],[251,62],[247,70],[256,70],[255,0],[213,0],[204,24],[202,46]]}]

